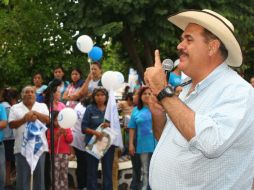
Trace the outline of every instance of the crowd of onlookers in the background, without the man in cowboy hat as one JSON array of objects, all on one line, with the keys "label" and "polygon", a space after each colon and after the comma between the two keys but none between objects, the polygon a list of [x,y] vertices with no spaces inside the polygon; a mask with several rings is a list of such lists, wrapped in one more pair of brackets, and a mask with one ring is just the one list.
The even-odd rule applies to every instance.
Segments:
[{"label": "crowd of onlookers in the background, without the man in cowboy hat", "polygon": [[[71,71],[71,82],[66,81],[65,72],[60,66],[53,70],[53,76],[54,79],[60,81],[56,86],[51,84],[54,82],[53,79],[47,85],[43,81],[43,75],[36,72],[32,76],[33,84],[25,86],[21,93],[14,88],[2,90],[0,124],[4,129],[0,130],[0,134],[2,134],[4,144],[1,146],[3,152],[1,155],[4,155],[5,152],[5,159],[1,159],[0,189],[11,188],[14,186],[13,183],[16,183],[17,190],[30,188],[30,165],[26,157],[22,155],[21,149],[27,124],[36,120],[48,127],[48,130],[42,135],[42,139],[47,141],[48,146],[40,156],[33,173],[35,189],[50,189],[53,185],[55,189],[68,189],[68,161],[73,159],[77,161],[78,189],[100,188],[97,183],[99,162],[102,164],[103,176],[101,189],[118,189],[118,167],[116,165],[118,166],[118,158],[121,155],[129,155],[133,162],[136,177],[133,178],[132,189],[149,189],[149,163],[157,144],[153,136],[152,118],[148,108],[150,90],[147,87],[136,86],[133,93],[127,86],[122,100],[117,102],[120,116],[125,119],[122,127],[125,140],[128,141],[124,143],[126,146],[120,150],[113,144],[106,147],[108,144],[106,145],[104,141],[108,142],[110,139],[106,138],[103,132],[96,130],[98,126],[110,127],[110,123],[104,118],[109,95],[100,81],[102,76],[100,63],[91,64],[86,80],[82,79],[82,73],[77,68]],[[51,93],[52,103],[50,102]],[[77,122],[74,126],[65,129],[59,125],[57,116],[67,107],[75,111]],[[51,111],[54,123],[54,142],[51,142],[50,134],[49,115]],[[131,131],[130,138],[129,130]],[[86,146],[93,136],[96,137],[95,145],[101,144],[104,147],[105,144],[103,150],[100,151],[107,148],[104,153],[98,152],[101,146],[93,146],[93,150],[97,148],[98,154],[103,155],[100,160],[86,152]],[[149,143],[147,144],[142,138],[148,140]],[[49,175],[52,143],[55,155],[54,184]],[[140,160],[140,164],[135,164],[135,159]],[[139,172],[135,173],[135,171]]]}]

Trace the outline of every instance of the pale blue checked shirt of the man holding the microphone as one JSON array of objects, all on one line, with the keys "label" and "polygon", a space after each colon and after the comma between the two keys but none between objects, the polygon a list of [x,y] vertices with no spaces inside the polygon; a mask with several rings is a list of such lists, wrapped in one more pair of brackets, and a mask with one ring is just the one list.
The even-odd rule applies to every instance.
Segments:
[{"label": "pale blue checked shirt of the man holding the microphone", "polygon": [[187,141],[168,119],[153,153],[152,189],[246,190],[254,176],[254,89],[225,63],[180,99],[195,112]]}]

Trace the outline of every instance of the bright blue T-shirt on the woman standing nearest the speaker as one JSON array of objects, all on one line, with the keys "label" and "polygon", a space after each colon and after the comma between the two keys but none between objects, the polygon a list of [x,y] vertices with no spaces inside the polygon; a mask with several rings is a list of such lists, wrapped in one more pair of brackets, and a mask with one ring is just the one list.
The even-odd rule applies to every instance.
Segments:
[{"label": "bright blue T-shirt on the woman standing nearest the speaker", "polygon": [[136,152],[153,152],[156,140],[152,130],[152,114],[148,107],[144,106],[141,110],[135,107],[131,113],[128,128],[136,129]]}]

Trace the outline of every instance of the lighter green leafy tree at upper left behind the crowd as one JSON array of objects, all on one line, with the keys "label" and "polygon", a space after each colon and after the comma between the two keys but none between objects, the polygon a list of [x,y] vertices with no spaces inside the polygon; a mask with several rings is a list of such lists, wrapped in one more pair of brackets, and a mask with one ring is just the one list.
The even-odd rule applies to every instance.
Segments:
[{"label": "lighter green leafy tree at upper left behind the crowd", "polygon": [[0,19],[1,86],[31,84],[35,71],[49,81],[56,65],[68,70],[76,63],[87,62],[82,54],[71,51],[72,35],[64,31],[58,15],[46,1],[10,2],[0,8]]}]

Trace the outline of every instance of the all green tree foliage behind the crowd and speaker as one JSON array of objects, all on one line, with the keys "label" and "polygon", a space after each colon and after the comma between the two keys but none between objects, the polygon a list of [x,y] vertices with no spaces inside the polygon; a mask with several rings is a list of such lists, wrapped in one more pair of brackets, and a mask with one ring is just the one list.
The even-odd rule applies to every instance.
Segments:
[{"label": "all green tree foliage behind the crowd and speaker", "polygon": [[[76,48],[86,34],[103,48],[104,71],[144,69],[153,63],[153,52],[177,58],[181,30],[169,15],[185,9],[212,9],[235,26],[242,47],[244,71],[254,74],[254,1],[246,0],[2,0],[0,2],[0,86],[22,87],[40,71],[46,81],[52,69],[62,65],[70,75],[73,67],[89,72],[87,55]],[[75,35],[79,31],[79,35]],[[106,37],[103,37],[106,36]]]}]

